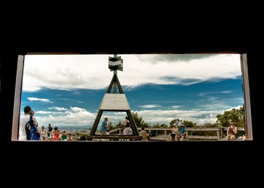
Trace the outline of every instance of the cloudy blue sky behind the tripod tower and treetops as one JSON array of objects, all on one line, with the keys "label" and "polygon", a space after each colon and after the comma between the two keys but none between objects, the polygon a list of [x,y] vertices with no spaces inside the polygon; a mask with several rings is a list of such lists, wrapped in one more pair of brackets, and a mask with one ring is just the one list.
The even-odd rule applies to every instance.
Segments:
[{"label": "cloudy blue sky behind the tripod tower and treetops", "polygon": [[[109,56],[26,55],[21,113],[32,106],[40,126],[89,128],[113,71]],[[215,123],[224,110],[243,106],[239,54],[118,54],[120,84],[131,111],[148,124],[173,119]],[[126,113],[105,112],[118,124]]]}]

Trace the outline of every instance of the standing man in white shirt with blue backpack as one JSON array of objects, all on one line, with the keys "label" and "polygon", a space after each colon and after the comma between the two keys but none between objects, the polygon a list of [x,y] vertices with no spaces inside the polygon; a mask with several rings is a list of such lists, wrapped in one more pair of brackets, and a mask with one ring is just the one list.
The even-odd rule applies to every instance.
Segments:
[{"label": "standing man in white shirt with blue backpack", "polygon": [[[34,117],[34,111],[30,106],[24,107],[24,114],[19,121],[19,141],[39,140],[40,135],[37,130],[38,121]],[[30,131],[28,131],[30,130]]]}]

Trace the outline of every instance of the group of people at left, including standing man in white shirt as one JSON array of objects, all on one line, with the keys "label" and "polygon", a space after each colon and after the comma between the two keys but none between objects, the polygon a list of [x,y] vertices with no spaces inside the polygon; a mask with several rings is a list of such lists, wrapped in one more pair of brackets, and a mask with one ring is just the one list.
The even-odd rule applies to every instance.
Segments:
[{"label": "group of people at left, including standing man in white shirt", "polygon": [[52,128],[52,125],[48,125],[48,129],[45,130],[45,126],[41,126],[41,129],[38,130],[39,123],[36,120],[36,117],[34,117],[34,111],[30,106],[25,106],[24,107],[24,114],[21,115],[20,117],[20,123],[19,123],[19,141],[27,141],[30,140],[27,137],[27,129],[26,129],[26,124],[28,121],[32,118],[33,124],[37,130],[37,134],[39,134],[39,139],[40,141],[49,141],[49,137],[52,137],[52,141],[73,141],[72,135],[71,134],[66,134],[66,131],[63,130],[61,132],[61,137],[60,137],[60,130],[58,130],[58,127]]}]

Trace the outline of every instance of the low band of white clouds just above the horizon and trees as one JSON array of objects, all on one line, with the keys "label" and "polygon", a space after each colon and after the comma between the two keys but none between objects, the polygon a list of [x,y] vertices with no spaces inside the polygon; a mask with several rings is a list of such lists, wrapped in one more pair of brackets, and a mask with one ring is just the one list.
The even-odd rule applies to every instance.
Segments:
[{"label": "low band of white clouds just above the horizon and trees", "polygon": [[[237,108],[239,108],[239,106]],[[51,123],[57,127],[67,125],[72,127],[87,126],[87,128],[90,128],[93,126],[97,115],[96,113],[89,113],[87,110],[83,109],[67,110],[67,113],[50,112],[50,116],[47,117],[38,116],[38,114],[43,113],[43,111],[35,112],[39,124],[45,125]],[[218,114],[223,114],[223,110],[139,110],[134,111],[134,113],[137,113],[138,117],[143,117],[143,120],[146,123],[151,124],[151,126],[157,123],[169,125],[170,121],[173,119],[188,120],[197,123],[197,125],[202,125],[205,123],[216,123],[216,116]],[[109,117],[109,122],[111,121],[118,124],[119,121],[124,121],[126,113],[104,112],[100,119],[100,123],[98,124],[98,128],[100,128],[100,124],[104,117]],[[65,124],[65,121],[67,124]]]}]

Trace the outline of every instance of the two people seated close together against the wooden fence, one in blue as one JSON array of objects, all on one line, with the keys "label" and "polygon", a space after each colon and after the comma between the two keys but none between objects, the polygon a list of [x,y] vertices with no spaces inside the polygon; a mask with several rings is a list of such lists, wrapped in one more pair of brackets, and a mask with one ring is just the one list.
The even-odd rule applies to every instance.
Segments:
[{"label": "two people seated close together against the wooden fence, one in blue", "polygon": [[168,135],[167,141],[184,141],[186,137],[186,130],[184,122],[179,123],[179,127],[177,126],[178,122],[173,124],[173,129],[171,130],[171,134]]}]

